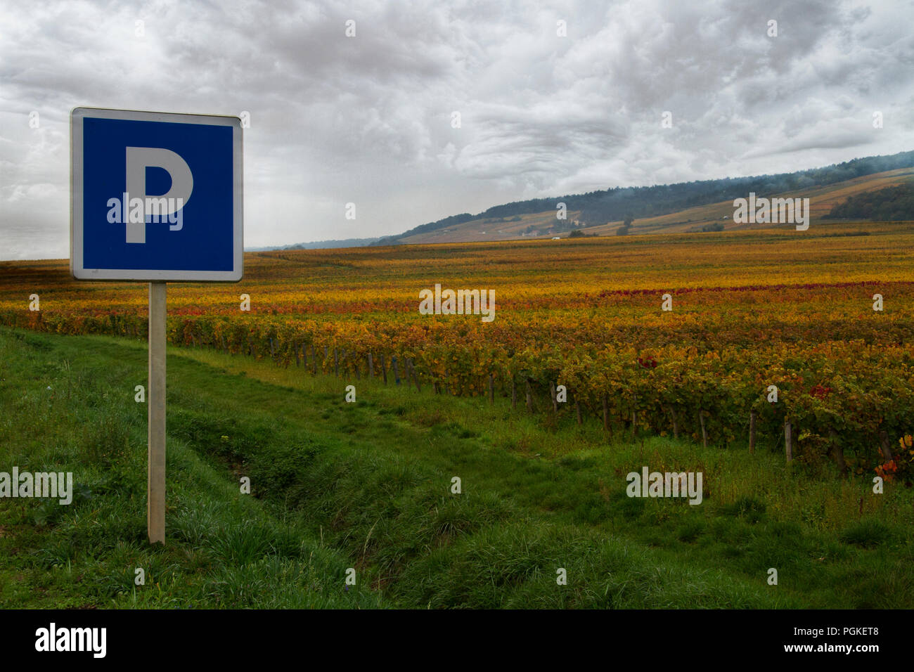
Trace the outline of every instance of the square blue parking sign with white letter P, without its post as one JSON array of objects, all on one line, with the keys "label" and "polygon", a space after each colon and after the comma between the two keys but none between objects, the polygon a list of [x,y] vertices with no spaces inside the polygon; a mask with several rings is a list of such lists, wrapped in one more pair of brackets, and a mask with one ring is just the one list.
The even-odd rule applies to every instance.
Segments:
[{"label": "square blue parking sign with white letter P, without its post", "polygon": [[238,117],[80,107],[70,124],[75,278],[241,279]]}]

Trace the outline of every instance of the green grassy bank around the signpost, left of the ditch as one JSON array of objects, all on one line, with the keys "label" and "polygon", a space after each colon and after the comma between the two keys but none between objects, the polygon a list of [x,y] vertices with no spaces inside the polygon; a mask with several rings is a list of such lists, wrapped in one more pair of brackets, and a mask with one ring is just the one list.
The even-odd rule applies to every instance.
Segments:
[{"label": "green grassy bank around the signpost, left of the ditch", "polygon": [[[239,496],[224,464],[169,439],[168,543],[145,520],[139,358],[72,338],[0,332],[0,471],[72,471],[73,503],[0,499],[0,607],[383,605],[293,521]],[[175,392],[179,390],[175,389]],[[143,568],[145,585],[134,584]]]}]

